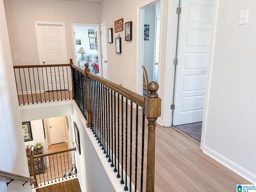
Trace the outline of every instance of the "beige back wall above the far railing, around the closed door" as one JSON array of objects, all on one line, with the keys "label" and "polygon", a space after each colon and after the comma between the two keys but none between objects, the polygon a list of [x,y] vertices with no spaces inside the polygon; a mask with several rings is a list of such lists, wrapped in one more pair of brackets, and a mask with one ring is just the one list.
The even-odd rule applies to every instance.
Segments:
[{"label": "beige back wall above the far railing, around the closed door", "polygon": [[[100,23],[100,4],[62,0],[4,0],[13,65],[39,64],[35,21],[65,22],[69,58],[74,58],[71,23]],[[26,48],[24,48],[26,47]],[[18,54],[19,59],[14,59]]]}]

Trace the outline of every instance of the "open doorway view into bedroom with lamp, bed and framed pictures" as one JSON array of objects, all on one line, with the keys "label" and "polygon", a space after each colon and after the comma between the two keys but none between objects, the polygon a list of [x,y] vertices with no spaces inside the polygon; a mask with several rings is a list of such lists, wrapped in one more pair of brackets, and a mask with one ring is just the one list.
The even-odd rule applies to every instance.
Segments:
[{"label": "open doorway view into bedroom with lamp, bed and framed pictures", "polygon": [[74,31],[74,58],[73,63],[81,68],[89,64],[89,69],[96,75],[101,75],[100,35],[98,24],[72,24]]}]

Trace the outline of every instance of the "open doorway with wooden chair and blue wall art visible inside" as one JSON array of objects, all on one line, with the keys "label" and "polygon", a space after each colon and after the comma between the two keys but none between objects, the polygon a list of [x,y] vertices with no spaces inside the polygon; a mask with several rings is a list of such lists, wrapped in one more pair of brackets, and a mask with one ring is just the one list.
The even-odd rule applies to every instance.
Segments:
[{"label": "open doorway with wooden chair and blue wall art visible inside", "polygon": [[[160,1],[152,1],[139,9],[139,94],[146,95],[148,82],[158,82],[160,45]],[[143,35],[142,35],[143,34]],[[140,75],[139,75],[140,76]],[[142,83],[143,82],[143,83]],[[143,90],[142,90],[143,88]]]}]

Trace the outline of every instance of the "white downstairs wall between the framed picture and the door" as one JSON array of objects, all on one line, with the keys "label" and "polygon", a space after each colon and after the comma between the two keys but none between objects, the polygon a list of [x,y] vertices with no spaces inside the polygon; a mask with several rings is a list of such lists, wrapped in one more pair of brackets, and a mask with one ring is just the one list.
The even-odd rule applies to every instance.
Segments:
[{"label": "white downstairs wall between the framed picture and the door", "polygon": [[47,146],[46,146],[46,143],[44,140],[44,128],[43,128],[42,119],[30,121],[30,125],[31,125],[31,132],[32,132],[33,140],[24,142],[25,147],[26,147],[26,145],[28,145],[30,147],[32,144],[36,144],[36,143],[40,142],[40,143],[42,143],[42,146],[43,146],[43,152],[46,153]]}]

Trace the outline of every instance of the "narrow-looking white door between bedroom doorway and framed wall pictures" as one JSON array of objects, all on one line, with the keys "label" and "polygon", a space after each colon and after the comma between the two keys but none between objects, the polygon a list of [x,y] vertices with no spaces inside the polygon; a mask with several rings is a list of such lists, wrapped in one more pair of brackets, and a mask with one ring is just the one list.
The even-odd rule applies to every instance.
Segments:
[{"label": "narrow-looking white door between bedroom doorway and framed wall pictures", "polygon": [[108,60],[107,60],[107,43],[106,43],[106,24],[100,25],[101,50],[102,50],[102,77],[108,79]]}]

